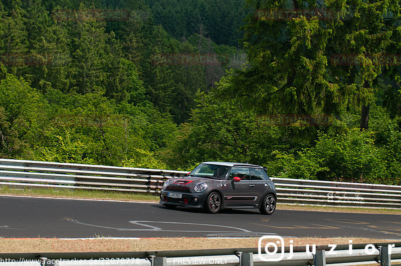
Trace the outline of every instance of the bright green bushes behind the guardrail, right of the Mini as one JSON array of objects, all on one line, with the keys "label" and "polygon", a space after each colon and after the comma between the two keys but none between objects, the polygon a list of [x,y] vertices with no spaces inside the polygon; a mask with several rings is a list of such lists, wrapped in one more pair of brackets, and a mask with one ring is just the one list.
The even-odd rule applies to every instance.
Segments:
[{"label": "bright green bushes behind the guardrail, right of the Mini", "polygon": [[268,171],[284,178],[401,184],[400,139],[393,135],[388,145],[378,146],[370,131],[352,129],[335,137],[319,133],[316,145],[296,156],[274,152]]}]

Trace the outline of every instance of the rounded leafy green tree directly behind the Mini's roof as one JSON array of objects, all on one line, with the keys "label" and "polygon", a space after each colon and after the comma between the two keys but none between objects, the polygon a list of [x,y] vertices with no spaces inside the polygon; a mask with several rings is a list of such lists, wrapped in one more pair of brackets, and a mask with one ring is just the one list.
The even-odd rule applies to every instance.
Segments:
[{"label": "rounded leafy green tree directly behind the Mini's roof", "polygon": [[170,167],[213,160],[265,164],[271,151],[288,145],[280,143],[278,127],[260,123],[237,101],[222,101],[214,93],[197,97],[191,119],[162,152]]}]

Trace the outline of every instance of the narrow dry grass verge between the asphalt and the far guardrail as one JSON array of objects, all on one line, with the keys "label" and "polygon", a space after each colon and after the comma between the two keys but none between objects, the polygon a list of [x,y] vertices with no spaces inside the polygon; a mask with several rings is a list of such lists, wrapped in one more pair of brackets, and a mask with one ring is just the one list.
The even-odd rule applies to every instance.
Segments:
[{"label": "narrow dry grass verge between the asphalt and the far guardrail", "polygon": [[[122,193],[114,191],[98,191],[85,189],[51,189],[51,188],[24,188],[14,189],[0,187],[0,194],[18,196],[37,196],[37,197],[57,197],[57,198],[81,198],[81,199],[106,199],[121,201],[144,201],[158,202],[158,194],[151,193]],[[375,214],[401,214],[401,210],[393,209],[368,209],[368,208],[344,208],[327,206],[305,206],[303,204],[289,205],[277,204],[277,209],[281,210],[301,210],[301,211],[326,211],[326,212],[350,212],[350,213],[375,213]]]}]

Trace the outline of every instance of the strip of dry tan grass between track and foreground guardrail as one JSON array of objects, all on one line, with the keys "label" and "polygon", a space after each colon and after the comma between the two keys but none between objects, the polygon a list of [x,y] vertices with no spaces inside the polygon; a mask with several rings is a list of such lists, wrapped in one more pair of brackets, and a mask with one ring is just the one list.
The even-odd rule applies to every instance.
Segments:
[{"label": "strip of dry tan grass between track and foreground guardrail", "polygon": [[[0,238],[0,253],[20,252],[91,252],[91,251],[149,251],[213,248],[258,247],[259,238],[141,238],[141,239],[58,239],[58,238]],[[372,238],[285,238],[285,245],[353,244],[385,242]]]}]

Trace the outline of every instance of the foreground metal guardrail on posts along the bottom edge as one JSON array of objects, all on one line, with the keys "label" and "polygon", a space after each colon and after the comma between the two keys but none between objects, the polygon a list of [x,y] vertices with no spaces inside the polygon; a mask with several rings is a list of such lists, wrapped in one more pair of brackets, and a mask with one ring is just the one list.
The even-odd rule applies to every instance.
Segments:
[{"label": "foreground metal guardrail on posts along the bottom edge", "polygon": [[[274,248],[269,247],[269,252]],[[314,249],[314,250],[313,250]],[[378,262],[391,265],[401,259],[401,242],[310,247],[278,247],[274,255],[259,253],[258,248],[230,248],[206,250],[134,251],[134,252],[79,252],[79,253],[0,253],[3,266],[79,266],[79,265],[316,265],[332,263]],[[267,261],[271,260],[271,261]],[[273,261],[276,260],[276,261]]]}]

